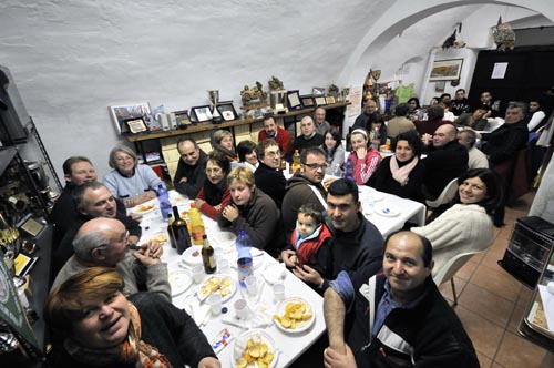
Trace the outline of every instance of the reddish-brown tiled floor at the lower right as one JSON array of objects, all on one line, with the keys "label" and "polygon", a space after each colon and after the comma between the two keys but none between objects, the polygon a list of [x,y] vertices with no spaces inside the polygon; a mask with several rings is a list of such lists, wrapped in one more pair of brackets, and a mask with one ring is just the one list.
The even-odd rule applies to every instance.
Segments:
[{"label": "reddish-brown tiled floor at the lower right", "polygon": [[[502,259],[515,219],[527,215],[534,193],[506,208],[504,226],[495,229],[493,246],[473,257],[455,276],[458,306],[462,320],[483,368],[552,368],[553,355],[517,334],[517,324],[532,292],[503,270]],[[452,301],[450,283],[441,285]]]}]

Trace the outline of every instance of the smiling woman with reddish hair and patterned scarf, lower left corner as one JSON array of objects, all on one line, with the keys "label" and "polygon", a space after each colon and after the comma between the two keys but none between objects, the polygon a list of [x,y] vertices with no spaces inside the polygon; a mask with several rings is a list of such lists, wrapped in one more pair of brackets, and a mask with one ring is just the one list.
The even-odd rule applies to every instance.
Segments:
[{"label": "smiling woman with reddish hair and patterned scarf, lower left corner", "polygon": [[50,293],[53,367],[191,367],[222,365],[183,309],[152,293],[125,298],[113,268],[90,267]]}]

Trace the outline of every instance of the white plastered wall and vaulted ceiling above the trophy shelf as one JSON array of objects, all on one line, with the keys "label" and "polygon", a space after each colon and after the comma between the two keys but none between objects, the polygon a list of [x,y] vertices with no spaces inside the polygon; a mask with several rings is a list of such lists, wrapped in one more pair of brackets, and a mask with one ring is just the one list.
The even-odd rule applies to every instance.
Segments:
[{"label": "white plastered wall and vaulted ceiling above the trophy shelf", "polygon": [[[182,110],[207,103],[206,90],[219,89],[222,100],[233,99],[238,108],[240,89],[256,80],[266,84],[277,75],[286,88],[307,93],[314,85],[359,84],[373,64],[383,70],[383,80],[393,78],[414,57],[421,60],[403,79],[421,85],[431,48],[460,18],[476,17],[482,3],[517,6],[3,0],[0,64],[10,68],[58,174],[64,159],[83,154],[102,176],[109,171],[107,153],[120,141],[109,105],[147,101]],[[525,3],[530,13],[554,19],[552,2]]]}]

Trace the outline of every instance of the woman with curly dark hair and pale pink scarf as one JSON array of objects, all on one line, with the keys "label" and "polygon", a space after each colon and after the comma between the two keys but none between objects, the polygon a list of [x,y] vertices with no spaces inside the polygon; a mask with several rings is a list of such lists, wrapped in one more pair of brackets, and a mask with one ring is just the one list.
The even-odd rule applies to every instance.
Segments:
[{"label": "woman with curly dark hair and pale pink scarf", "polygon": [[421,185],[424,167],[421,163],[422,143],[414,131],[400,133],[392,141],[394,155],[384,157],[368,184],[378,191],[423,202]]}]

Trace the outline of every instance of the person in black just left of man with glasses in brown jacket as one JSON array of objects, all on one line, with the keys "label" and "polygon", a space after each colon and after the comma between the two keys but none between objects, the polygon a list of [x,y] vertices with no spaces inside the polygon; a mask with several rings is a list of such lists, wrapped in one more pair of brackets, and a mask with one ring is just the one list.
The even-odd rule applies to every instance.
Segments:
[{"label": "person in black just left of man with glasses in brown jacket", "polygon": [[256,147],[256,154],[259,157],[259,166],[254,172],[256,187],[269,195],[280,209],[287,180],[279,170],[281,157],[279,145],[271,139],[261,141]]}]

